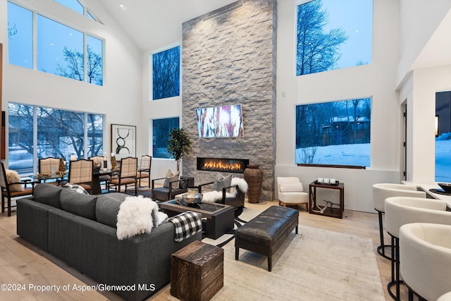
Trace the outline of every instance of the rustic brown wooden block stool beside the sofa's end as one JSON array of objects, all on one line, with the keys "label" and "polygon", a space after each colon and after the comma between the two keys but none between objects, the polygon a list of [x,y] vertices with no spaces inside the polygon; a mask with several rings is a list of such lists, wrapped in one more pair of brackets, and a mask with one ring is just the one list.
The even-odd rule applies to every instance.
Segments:
[{"label": "rustic brown wooden block stool beside the sofa's end", "polygon": [[210,300],[224,285],[224,250],[199,240],[171,256],[171,295]]}]

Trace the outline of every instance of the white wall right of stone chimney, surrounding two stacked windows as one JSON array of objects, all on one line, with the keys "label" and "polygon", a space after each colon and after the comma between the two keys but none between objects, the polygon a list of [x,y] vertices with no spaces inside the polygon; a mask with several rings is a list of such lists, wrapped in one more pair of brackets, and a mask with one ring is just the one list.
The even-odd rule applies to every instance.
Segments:
[{"label": "white wall right of stone chimney, surrounding two stacked windows", "polygon": [[[278,2],[276,176],[298,176],[308,189],[322,176],[345,183],[347,209],[373,211],[371,185],[400,181],[400,106],[395,93],[399,61],[399,3],[374,1],[373,62],[295,76],[295,0]],[[295,106],[372,97],[371,167],[366,170],[295,166]]]}]

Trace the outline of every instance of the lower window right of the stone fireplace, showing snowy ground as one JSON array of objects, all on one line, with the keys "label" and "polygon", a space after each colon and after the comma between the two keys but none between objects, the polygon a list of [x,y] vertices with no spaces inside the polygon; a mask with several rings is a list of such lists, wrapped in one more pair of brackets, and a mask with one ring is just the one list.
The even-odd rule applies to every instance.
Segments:
[{"label": "lower window right of the stone fireplace, showing snowy ground", "polygon": [[296,106],[296,164],[370,166],[371,98]]}]

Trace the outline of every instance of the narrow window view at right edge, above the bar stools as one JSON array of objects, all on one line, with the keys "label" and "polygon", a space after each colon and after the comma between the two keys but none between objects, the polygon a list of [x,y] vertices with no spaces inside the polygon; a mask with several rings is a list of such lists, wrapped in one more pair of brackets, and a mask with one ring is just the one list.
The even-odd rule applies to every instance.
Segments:
[{"label": "narrow window view at right edge, above the bar stools", "polygon": [[435,93],[435,182],[451,183],[451,91]]}]

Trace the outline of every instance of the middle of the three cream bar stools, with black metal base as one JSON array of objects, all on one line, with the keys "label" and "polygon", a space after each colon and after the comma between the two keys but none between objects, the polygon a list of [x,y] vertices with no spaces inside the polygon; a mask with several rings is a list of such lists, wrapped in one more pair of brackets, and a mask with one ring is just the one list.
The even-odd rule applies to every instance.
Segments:
[{"label": "middle of the three cream bar stools, with black metal base", "polygon": [[[451,211],[446,211],[446,202],[440,199],[419,197],[388,197],[385,199],[385,223],[392,242],[392,279],[387,285],[388,293],[400,300],[400,228],[407,223],[440,223],[451,225]],[[396,285],[396,292],[391,287]]]}]

